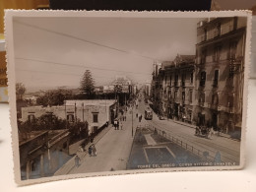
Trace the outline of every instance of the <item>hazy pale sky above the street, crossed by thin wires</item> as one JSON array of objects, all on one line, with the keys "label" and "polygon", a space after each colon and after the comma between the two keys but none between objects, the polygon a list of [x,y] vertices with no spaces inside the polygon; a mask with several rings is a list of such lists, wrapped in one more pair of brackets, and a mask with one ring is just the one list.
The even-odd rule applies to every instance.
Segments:
[{"label": "hazy pale sky above the street, crossed by thin wires", "polygon": [[86,69],[96,86],[116,75],[152,79],[154,60],[195,54],[198,19],[15,18],[16,81],[28,90],[78,88]]}]

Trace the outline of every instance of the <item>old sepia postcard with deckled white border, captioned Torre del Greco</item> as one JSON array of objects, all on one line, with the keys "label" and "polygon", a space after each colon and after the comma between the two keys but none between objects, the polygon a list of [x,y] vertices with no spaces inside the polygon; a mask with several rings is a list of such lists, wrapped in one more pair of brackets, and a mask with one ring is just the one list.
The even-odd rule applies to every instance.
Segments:
[{"label": "old sepia postcard with deckled white border, captioned Torre del Greco", "polygon": [[19,185],[244,165],[251,13],[6,11]]}]

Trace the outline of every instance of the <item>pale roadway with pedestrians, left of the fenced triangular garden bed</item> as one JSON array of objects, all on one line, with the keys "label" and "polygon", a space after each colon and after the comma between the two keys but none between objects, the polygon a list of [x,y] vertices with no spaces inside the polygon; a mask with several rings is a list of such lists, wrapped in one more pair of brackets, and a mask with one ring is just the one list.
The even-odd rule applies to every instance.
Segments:
[{"label": "pale roadway with pedestrians, left of the fenced triangular garden bed", "polygon": [[[138,121],[134,120],[134,128],[137,124]],[[86,155],[81,159],[81,165],[79,167],[73,167],[69,171],[69,174],[125,170],[130,156],[132,142],[132,114],[128,112],[127,121],[123,122],[123,130],[114,130],[114,127],[111,128],[96,143],[97,156],[89,157]]]}]

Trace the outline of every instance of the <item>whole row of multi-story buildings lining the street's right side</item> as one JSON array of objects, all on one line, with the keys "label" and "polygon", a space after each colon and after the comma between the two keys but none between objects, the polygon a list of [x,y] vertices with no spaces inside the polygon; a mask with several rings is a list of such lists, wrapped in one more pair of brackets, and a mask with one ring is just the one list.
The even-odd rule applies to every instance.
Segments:
[{"label": "whole row of multi-story buildings lining the street's right side", "polygon": [[246,18],[198,23],[196,56],[154,63],[151,96],[159,115],[239,137]]}]

